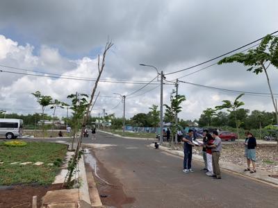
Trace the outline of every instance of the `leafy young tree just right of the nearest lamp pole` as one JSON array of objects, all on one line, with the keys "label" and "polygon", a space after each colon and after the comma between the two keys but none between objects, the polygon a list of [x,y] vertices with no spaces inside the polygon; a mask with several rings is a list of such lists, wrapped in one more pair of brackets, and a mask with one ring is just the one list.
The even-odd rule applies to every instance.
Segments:
[{"label": "leafy young tree just right of the nearest lamp pole", "polygon": [[[178,131],[178,125],[176,124],[176,115],[181,112],[182,110],[182,107],[181,107],[181,103],[183,101],[186,101],[186,96],[183,96],[183,95],[177,95],[177,96],[172,96],[170,97],[171,99],[171,105],[166,105],[164,104],[165,106],[165,117],[167,119],[169,119],[171,125],[170,125],[170,130],[171,130],[171,133],[172,133],[172,136],[174,138],[174,136],[177,134],[177,131]],[[162,135],[161,135],[162,136]],[[172,139],[172,142],[173,142],[174,139]],[[175,139],[177,142],[177,138]]]}]

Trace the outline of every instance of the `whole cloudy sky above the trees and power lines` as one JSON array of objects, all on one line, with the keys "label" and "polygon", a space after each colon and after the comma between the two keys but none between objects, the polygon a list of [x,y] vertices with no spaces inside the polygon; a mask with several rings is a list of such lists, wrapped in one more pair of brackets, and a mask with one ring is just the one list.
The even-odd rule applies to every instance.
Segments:
[{"label": "whole cloudy sky above the trees and power lines", "polygon": [[[56,73],[95,78],[97,54],[108,37],[115,44],[108,52],[101,78],[147,82],[156,71],[139,64],[152,64],[165,73],[190,67],[278,30],[278,1],[275,0],[157,0],[157,1],[0,1],[0,67],[16,73]],[[202,67],[166,76],[174,80]],[[22,71],[7,67],[17,67]],[[278,93],[278,70],[269,69],[273,91]],[[42,73],[41,73],[42,74]],[[214,65],[181,80],[247,92],[269,93],[265,75],[256,76],[240,64]],[[153,84],[158,84],[154,80]],[[0,110],[40,112],[31,92],[39,90],[62,101],[75,92],[89,93],[93,82],[45,78],[0,72]],[[99,83],[102,96],[131,94],[143,85]],[[126,115],[148,112],[159,105],[158,85],[148,85],[126,98]],[[156,87],[156,88],[155,88]],[[169,103],[172,85],[164,86]],[[145,94],[143,94],[145,93]],[[238,94],[179,84],[183,103],[182,119],[195,119],[207,107],[220,105]],[[269,96],[243,97],[250,110],[272,111]],[[67,101],[69,102],[69,101]],[[101,97],[93,115],[102,109],[122,116],[117,97]],[[117,107],[116,107],[117,106]],[[48,111],[51,112],[50,110]],[[58,110],[65,116],[65,110]]]}]

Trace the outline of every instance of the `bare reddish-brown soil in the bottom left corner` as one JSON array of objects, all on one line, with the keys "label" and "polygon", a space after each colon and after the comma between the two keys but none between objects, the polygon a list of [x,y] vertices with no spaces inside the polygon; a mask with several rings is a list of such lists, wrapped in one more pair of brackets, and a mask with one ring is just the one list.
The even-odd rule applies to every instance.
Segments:
[{"label": "bare reddish-brown soil in the bottom left corner", "polygon": [[38,198],[38,207],[41,206],[42,197],[47,191],[61,189],[62,184],[54,184],[49,187],[42,186],[0,186],[1,208],[27,208],[32,207],[33,196]]}]

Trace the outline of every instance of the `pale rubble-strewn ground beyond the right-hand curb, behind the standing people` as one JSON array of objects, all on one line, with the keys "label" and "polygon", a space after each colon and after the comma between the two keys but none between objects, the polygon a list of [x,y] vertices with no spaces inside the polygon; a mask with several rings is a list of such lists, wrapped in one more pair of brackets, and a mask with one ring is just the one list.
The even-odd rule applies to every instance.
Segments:
[{"label": "pale rubble-strewn ground beyond the right-hand curb, behind the standing people", "polygon": [[[183,150],[183,144],[177,146]],[[193,153],[202,155],[202,147],[194,147]],[[222,144],[220,160],[232,162],[240,166],[247,166],[244,144]],[[256,168],[267,171],[270,175],[278,175],[278,152],[276,144],[257,144]]]}]

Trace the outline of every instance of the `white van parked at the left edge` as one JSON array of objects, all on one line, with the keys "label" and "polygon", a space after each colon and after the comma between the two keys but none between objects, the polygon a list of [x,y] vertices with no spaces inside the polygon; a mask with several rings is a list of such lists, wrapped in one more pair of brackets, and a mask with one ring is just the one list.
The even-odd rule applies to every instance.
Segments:
[{"label": "white van parked at the left edge", "polygon": [[16,139],[22,136],[22,119],[0,119],[0,137]]}]

